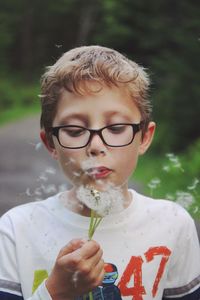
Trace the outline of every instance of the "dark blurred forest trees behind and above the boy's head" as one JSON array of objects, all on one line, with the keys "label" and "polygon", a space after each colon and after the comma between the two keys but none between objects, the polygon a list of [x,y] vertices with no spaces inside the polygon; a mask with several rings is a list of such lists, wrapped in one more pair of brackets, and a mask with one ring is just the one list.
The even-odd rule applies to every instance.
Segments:
[{"label": "dark blurred forest trees behind and above the boy's head", "polygon": [[115,48],[152,77],[157,150],[183,151],[200,136],[196,0],[7,0],[0,2],[2,71],[31,80],[64,51]]}]

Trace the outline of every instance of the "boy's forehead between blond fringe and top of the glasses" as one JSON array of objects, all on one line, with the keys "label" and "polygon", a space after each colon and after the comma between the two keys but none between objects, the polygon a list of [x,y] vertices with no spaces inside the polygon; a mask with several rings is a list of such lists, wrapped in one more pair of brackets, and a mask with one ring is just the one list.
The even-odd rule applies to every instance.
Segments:
[{"label": "boy's forehead between blond fringe and top of the glasses", "polygon": [[[91,84],[91,92],[83,95],[64,90],[58,101],[55,120],[66,118],[106,118],[115,115],[140,119],[140,112],[125,88]],[[134,121],[134,120],[133,120]]]}]

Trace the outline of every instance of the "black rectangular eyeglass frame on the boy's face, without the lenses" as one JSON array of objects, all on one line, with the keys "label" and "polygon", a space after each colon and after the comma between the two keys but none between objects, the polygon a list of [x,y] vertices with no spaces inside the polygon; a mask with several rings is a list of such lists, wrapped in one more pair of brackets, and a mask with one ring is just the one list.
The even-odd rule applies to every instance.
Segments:
[{"label": "black rectangular eyeglass frame on the boy's face, without the lenses", "polygon": [[[109,128],[109,127],[115,126],[115,125],[130,125],[130,126],[132,126],[133,137],[132,137],[132,139],[131,139],[131,141],[129,143],[127,143],[125,145],[120,145],[120,146],[113,146],[113,145],[109,145],[108,143],[106,143],[106,141],[105,141],[105,139],[104,139],[104,137],[102,135],[102,131],[105,128]],[[102,140],[102,142],[106,146],[118,148],[118,147],[125,147],[125,146],[130,145],[133,142],[136,133],[138,133],[143,128],[143,125],[144,125],[144,121],[140,121],[140,123],[137,123],[137,124],[135,124],[135,123],[114,123],[114,124],[111,124],[111,125],[108,125],[108,126],[104,126],[104,127],[100,128],[100,129],[90,129],[90,128],[83,127],[83,126],[78,126],[78,125],[60,125],[60,126],[50,127],[49,128],[49,132],[50,132],[50,134],[54,135],[57,138],[59,145],[61,147],[65,148],[65,149],[82,149],[82,148],[85,148],[85,147],[87,147],[89,145],[89,143],[91,142],[91,140],[92,140],[92,138],[93,138],[93,136],[95,134],[97,134],[100,137],[100,139]],[[86,130],[88,130],[90,132],[88,141],[87,141],[87,143],[84,146],[81,146],[81,147],[67,147],[67,146],[63,146],[61,144],[60,139],[59,139],[59,130],[61,128],[70,128],[70,127],[83,128],[83,129],[86,129]]]}]

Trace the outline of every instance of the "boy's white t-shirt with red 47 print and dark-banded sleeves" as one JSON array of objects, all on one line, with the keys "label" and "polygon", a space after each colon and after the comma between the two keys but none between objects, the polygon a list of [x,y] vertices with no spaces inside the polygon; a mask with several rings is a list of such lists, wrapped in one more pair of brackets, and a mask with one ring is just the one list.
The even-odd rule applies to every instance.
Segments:
[{"label": "boy's white t-shirt with red 47 print and dark-banded sleeves", "polygon": [[[173,202],[130,191],[129,207],[106,216],[93,237],[106,263],[94,300],[200,299],[192,218]],[[0,219],[0,300],[51,299],[44,280],[60,249],[87,238],[89,218],[66,209],[60,195],[18,206]]]}]

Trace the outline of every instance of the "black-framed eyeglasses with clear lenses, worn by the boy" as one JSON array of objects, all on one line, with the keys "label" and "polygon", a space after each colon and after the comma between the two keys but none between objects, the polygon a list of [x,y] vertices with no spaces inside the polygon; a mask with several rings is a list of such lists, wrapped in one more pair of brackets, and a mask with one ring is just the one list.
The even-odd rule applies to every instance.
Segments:
[{"label": "black-framed eyeglasses with clear lenses, worn by the boy", "polygon": [[86,147],[94,135],[98,135],[102,142],[109,147],[124,147],[130,145],[137,132],[142,129],[143,121],[138,124],[116,123],[100,129],[89,129],[76,125],[62,125],[50,128],[59,144],[68,149]]}]

